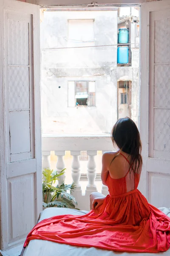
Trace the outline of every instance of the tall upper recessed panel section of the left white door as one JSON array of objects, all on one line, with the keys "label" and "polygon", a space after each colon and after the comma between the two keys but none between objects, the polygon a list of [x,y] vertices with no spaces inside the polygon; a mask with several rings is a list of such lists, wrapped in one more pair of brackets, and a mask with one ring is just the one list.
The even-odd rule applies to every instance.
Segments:
[{"label": "tall upper recessed panel section of the left white door", "polygon": [[11,162],[31,158],[31,137],[34,137],[30,129],[34,125],[30,122],[34,108],[32,32],[31,14],[5,10],[6,112],[9,112],[6,121]]}]

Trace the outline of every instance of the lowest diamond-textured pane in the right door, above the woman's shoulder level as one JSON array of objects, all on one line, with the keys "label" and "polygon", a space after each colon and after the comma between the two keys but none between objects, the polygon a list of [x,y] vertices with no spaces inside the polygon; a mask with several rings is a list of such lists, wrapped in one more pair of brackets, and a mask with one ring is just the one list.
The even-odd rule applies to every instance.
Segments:
[{"label": "lowest diamond-textured pane in the right door, above the woman's shoulder level", "polygon": [[154,110],[154,150],[170,151],[170,110]]}]

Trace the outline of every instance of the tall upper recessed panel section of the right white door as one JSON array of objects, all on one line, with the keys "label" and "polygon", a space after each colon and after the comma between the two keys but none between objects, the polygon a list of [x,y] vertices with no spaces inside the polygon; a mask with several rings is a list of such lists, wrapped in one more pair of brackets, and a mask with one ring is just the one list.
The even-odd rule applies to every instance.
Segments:
[{"label": "tall upper recessed panel section of the right white door", "polygon": [[150,12],[149,156],[170,159],[170,10]]}]

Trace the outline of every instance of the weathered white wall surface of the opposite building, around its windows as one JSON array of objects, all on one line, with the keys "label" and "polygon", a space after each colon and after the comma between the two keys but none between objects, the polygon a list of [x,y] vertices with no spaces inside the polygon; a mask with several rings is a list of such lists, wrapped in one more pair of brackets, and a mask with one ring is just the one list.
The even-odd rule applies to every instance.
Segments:
[{"label": "weathered white wall surface of the opposite building, around its windows", "polygon": [[[110,133],[117,120],[117,81],[125,78],[133,81],[132,117],[137,122],[139,49],[132,49],[133,67],[117,67],[117,46],[51,49],[68,46],[65,37],[71,18],[94,18],[95,44],[117,44],[117,11],[44,12],[42,133]],[[95,80],[96,107],[68,108],[69,80]]]}]

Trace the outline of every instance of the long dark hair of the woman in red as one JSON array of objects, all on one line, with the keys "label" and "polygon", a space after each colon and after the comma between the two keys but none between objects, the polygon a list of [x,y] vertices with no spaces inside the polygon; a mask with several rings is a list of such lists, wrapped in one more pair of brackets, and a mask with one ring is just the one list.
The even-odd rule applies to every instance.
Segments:
[{"label": "long dark hair of the woman in red", "polygon": [[113,126],[111,137],[113,145],[117,145],[120,150],[130,155],[133,172],[139,173],[142,166],[142,143],[133,120],[129,117],[120,118]]}]

